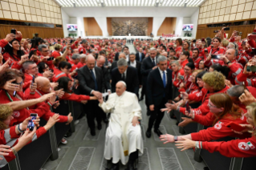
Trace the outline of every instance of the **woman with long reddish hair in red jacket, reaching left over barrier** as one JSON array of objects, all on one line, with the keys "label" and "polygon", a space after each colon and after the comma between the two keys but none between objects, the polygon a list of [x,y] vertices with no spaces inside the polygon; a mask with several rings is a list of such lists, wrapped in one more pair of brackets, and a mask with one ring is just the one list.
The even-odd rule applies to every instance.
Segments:
[{"label": "woman with long reddish hair in red jacket, reaching left over barrier", "polygon": [[250,133],[240,135],[232,131],[230,127],[226,126],[226,124],[230,122],[239,124],[246,123],[246,117],[244,116],[242,109],[239,108],[237,111],[234,111],[233,102],[229,95],[224,93],[211,95],[208,104],[210,112],[207,116],[193,114],[193,111],[190,111],[189,115],[193,117],[194,120],[197,120],[197,122],[206,126],[213,125],[213,127],[208,127],[200,132],[190,133],[185,136],[163,135],[160,138],[161,140],[166,140],[164,144],[174,142],[174,140],[184,140],[184,138],[197,141],[210,141],[218,140],[226,136],[238,137],[240,139],[250,136]]}]

